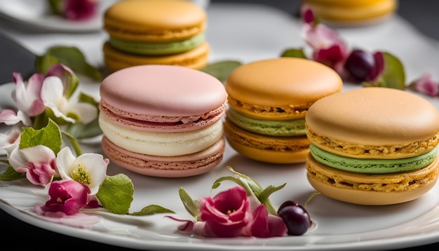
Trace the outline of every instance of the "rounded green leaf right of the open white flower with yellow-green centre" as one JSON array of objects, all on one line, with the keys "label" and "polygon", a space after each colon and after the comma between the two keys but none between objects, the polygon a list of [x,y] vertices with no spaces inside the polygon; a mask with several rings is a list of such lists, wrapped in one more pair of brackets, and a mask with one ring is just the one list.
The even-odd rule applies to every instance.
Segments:
[{"label": "rounded green leaf right of the open white flower with yellow-green centre", "polygon": [[134,185],[131,179],[119,173],[108,176],[100,185],[96,194],[102,206],[119,215],[126,215],[133,202]]}]

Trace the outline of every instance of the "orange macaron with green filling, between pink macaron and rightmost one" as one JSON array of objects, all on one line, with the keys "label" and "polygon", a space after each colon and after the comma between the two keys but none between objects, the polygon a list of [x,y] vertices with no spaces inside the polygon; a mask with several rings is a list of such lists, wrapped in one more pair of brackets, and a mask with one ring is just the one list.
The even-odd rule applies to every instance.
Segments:
[{"label": "orange macaron with green filling, between pink macaron and rightmost one", "polygon": [[309,153],[305,115],[313,102],[342,90],[330,67],[297,57],[241,65],[224,83],[224,135],[238,153],[266,163],[303,163]]}]

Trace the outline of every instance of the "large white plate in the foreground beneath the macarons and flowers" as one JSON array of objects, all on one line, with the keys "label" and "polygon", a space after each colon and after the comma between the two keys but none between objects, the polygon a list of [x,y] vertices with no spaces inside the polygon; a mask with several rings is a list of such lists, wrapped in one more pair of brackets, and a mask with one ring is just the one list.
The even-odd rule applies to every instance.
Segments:
[{"label": "large white plate in the foreground beneath the macarons and flowers", "polygon": [[[0,86],[0,100],[4,105],[13,84]],[[356,88],[350,86],[350,88]],[[431,100],[436,107],[439,98]],[[102,153],[100,144],[83,146],[84,151]],[[123,172],[133,180],[134,201],[130,212],[137,212],[150,204],[163,205],[177,212],[176,217],[191,219],[178,196],[182,186],[193,198],[210,195],[212,182],[218,177],[232,175],[227,166],[250,175],[262,186],[286,186],[271,195],[273,205],[293,200],[304,203],[314,192],[306,181],[304,164],[271,165],[251,161],[236,153],[229,145],[224,159],[214,170],[196,177],[166,179],[138,175],[109,165],[108,175]],[[233,182],[224,182],[214,190],[222,191]],[[178,223],[163,215],[133,217],[99,213],[102,217],[93,229],[76,229],[46,222],[29,209],[47,200],[47,191],[23,179],[0,182],[0,208],[29,224],[97,242],[143,250],[386,250],[434,243],[439,238],[439,184],[421,198],[400,205],[363,206],[334,201],[323,195],[314,197],[307,210],[316,228],[304,236],[281,238],[201,238],[177,231]]]}]

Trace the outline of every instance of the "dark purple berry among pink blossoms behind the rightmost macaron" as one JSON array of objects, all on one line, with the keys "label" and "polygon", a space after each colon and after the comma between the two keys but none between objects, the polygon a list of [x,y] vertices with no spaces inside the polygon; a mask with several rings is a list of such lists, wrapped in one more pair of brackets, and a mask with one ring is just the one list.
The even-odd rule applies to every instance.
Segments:
[{"label": "dark purple berry among pink blossoms behind the rightmost macaron", "polygon": [[365,50],[352,50],[346,62],[344,62],[344,69],[356,81],[365,81],[374,67],[374,56]]}]

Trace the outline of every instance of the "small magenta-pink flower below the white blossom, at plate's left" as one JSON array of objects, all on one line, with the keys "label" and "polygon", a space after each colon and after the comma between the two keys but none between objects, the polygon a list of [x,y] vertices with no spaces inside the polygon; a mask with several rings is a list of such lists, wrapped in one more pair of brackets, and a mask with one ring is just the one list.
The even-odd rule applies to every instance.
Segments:
[{"label": "small magenta-pink flower below the white blossom, at plate's left", "polygon": [[62,212],[74,215],[86,208],[90,201],[88,186],[70,179],[54,181],[49,187],[50,199],[44,206],[39,206],[41,212]]}]

